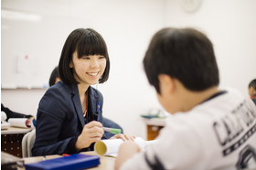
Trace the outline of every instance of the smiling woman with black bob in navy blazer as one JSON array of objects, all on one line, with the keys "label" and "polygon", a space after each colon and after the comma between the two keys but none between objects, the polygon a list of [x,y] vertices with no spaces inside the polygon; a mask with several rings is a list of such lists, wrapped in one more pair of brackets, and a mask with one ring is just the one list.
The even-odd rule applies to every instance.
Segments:
[{"label": "smiling woman with black bob in navy blazer", "polygon": [[[103,98],[91,85],[108,80],[109,71],[107,46],[98,32],[79,28],[69,34],[59,59],[60,81],[39,102],[33,156],[93,150],[104,133]],[[125,141],[134,136],[112,138]]]}]

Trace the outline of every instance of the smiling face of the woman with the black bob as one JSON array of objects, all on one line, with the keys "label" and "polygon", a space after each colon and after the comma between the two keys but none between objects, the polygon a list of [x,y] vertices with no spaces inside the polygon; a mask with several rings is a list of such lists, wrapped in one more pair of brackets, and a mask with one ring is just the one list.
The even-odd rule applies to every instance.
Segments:
[{"label": "smiling face of the woman with the black bob", "polygon": [[77,81],[90,86],[100,80],[106,68],[106,58],[101,55],[78,58],[78,53],[75,51],[72,55],[72,61],[69,63],[69,68],[73,68],[73,74]]}]

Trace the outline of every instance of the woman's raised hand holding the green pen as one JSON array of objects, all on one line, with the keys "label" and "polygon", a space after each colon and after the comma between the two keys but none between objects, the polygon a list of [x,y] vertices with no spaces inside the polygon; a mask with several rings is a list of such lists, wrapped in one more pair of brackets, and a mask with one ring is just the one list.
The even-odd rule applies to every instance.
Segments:
[{"label": "woman's raised hand holding the green pen", "polygon": [[91,143],[101,141],[103,133],[101,122],[92,121],[85,124],[76,142],[76,149],[80,150],[89,147]]}]

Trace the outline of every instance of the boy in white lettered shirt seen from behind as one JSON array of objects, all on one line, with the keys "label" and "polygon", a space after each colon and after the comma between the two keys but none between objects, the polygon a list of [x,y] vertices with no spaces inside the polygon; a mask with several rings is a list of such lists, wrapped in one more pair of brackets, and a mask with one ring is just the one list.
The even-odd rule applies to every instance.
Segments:
[{"label": "boy in white lettered shirt seen from behind", "polygon": [[121,145],[116,169],[240,169],[256,167],[256,109],[233,89],[220,90],[208,37],[192,28],[158,31],[144,70],[166,112],[151,147]]}]

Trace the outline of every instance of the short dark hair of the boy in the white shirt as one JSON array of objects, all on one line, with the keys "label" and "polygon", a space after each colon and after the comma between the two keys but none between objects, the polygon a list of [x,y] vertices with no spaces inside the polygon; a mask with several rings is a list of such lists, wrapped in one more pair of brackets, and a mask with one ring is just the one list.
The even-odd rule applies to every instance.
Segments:
[{"label": "short dark hair of the boy in the white shirt", "polygon": [[193,28],[164,28],[152,38],[144,57],[144,71],[155,90],[159,74],[176,78],[187,90],[219,85],[219,69],[211,41]]}]

